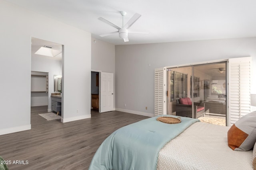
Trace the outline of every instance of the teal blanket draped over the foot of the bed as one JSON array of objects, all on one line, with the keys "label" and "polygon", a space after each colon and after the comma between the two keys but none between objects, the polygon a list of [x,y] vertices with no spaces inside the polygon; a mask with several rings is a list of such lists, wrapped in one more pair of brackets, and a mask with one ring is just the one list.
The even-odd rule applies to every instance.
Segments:
[{"label": "teal blanket draped over the foot of the bed", "polygon": [[156,170],[160,149],[199,121],[181,117],[181,123],[167,124],[156,118],[138,121],[112,133],[94,154],[89,170]]}]

